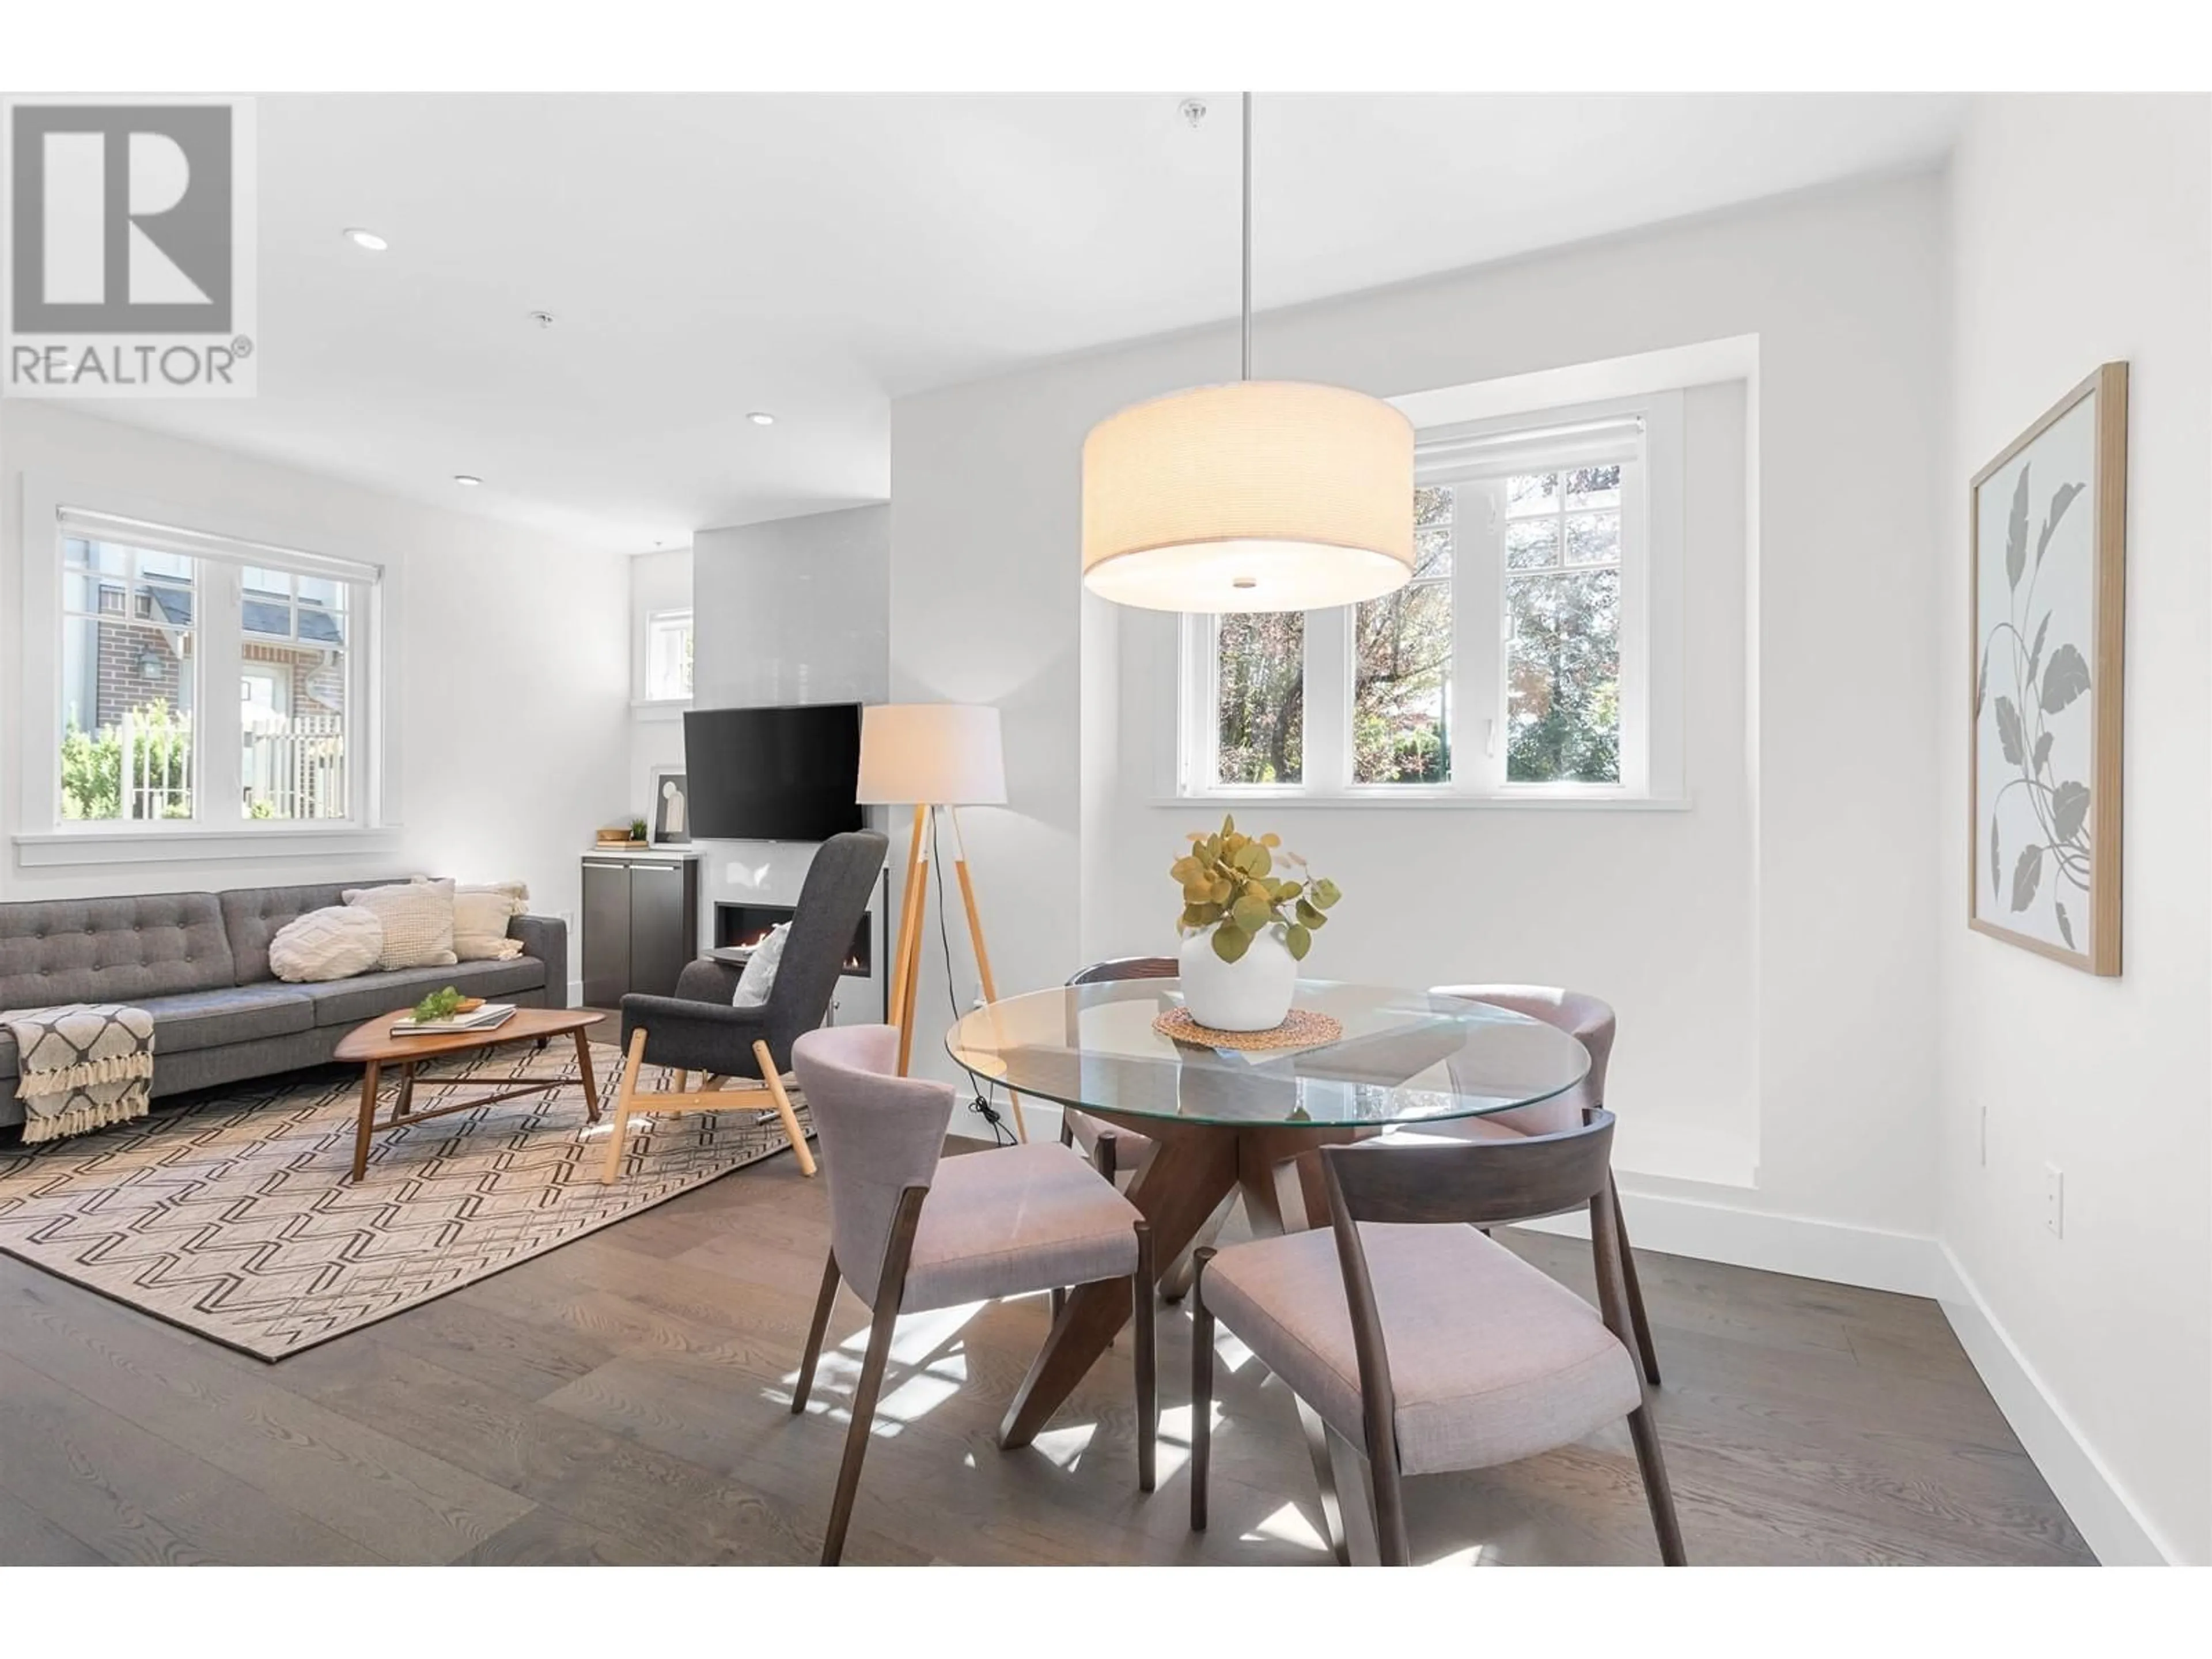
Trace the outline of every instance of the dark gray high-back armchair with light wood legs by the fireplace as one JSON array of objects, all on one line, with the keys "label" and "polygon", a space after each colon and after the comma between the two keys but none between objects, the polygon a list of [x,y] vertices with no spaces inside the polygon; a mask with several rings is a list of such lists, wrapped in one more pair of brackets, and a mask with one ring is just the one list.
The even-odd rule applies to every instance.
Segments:
[{"label": "dark gray high-back armchair with light wood legs by the fireplace", "polygon": [[[889,845],[880,830],[852,830],[830,836],[816,849],[799,887],[792,931],[783,940],[768,1002],[730,1006],[741,971],[712,958],[686,967],[677,975],[675,995],[622,998],[622,1086],[615,1091],[602,1181],[622,1175],[633,1115],[732,1113],[745,1108],[745,1095],[765,1097],[783,1119],[799,1168],[814,1175],[814,1155],[783,1091],[783,1075],[792,1066],[799,1035],[830,1018],[830,998],[836,995],[852,933],[867,914]],[[637,1088],[637,1075],[648,1062],[670,1068],[670,1088]],[[697,1088],[688,1086],[692,1073],[699,1073]]]}]

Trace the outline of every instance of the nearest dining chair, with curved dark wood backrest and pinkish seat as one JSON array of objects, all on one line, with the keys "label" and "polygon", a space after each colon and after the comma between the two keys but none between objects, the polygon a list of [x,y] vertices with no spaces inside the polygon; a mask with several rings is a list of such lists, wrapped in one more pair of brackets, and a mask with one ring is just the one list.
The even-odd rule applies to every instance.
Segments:
[{"label": "nearest dining chair, with curved dark wood backrest and pinkish seat", "polygon": [[[1681,1526],[1628,1352],[1613,1115],[1511,1141],[1327,1146],[1329,1225],[1199,1252],[1190,1526],[1206,1528],[1214,1321],[1367,1453],[1376,1542],[1405,1566],[1402,1478],[1491,1469],[1628,1418],[1659,1557]],[[1482,1228],[1588,1206],[1597,1307]]]}]

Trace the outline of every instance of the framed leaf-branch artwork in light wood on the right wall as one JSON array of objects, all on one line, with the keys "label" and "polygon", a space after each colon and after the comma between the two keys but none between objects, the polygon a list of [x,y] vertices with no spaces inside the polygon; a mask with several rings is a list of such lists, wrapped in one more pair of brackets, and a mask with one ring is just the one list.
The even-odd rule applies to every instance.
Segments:
[{"label": "framed leaf-branch artwork in light wood on the right wall", "polygon": [[1975,473],[1966,925],[2119,973],[2128,365]]}]

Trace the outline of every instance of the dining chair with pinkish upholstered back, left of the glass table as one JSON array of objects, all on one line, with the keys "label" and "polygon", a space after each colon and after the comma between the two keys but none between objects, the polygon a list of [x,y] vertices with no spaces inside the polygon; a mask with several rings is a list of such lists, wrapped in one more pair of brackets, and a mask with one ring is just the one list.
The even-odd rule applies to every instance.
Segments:
[{"label": "dining chair with pinkish upholstered back, left of the glass table", "polygon": [[902,1312],[1128,1279],[1137,1314],[1137,1489],[1152,1491],[1152,1234],[1113,1181],[1051,1141],[942,1157],[951,1084],[898,1077],[896,1026],[830,1026],[792,1046],[830,1177],[830,1261],[792,1413],[807,1407],[838,1283],[869,1305],[823,1566],[845,1553],[891,1327]]}]

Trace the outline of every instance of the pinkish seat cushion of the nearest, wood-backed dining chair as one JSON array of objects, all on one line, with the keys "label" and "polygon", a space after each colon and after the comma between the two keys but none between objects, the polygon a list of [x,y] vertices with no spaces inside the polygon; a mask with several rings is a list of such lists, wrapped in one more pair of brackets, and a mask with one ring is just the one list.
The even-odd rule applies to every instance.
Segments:
[{"label": "pinkish seat cushion of the nearest, wood-backed dining chair", "polygon": [[[925,1210],[927,1214],[927,1210]],[[1582,1440],[1644,1400],[1597,1310],[1473,1228],[1360,1225],[1398,1396],[1398,1467],[1489,1469]],[[1206,1305],[1352,1444],[1367,1442],[1327,1228],[1232,1245]]]}]

